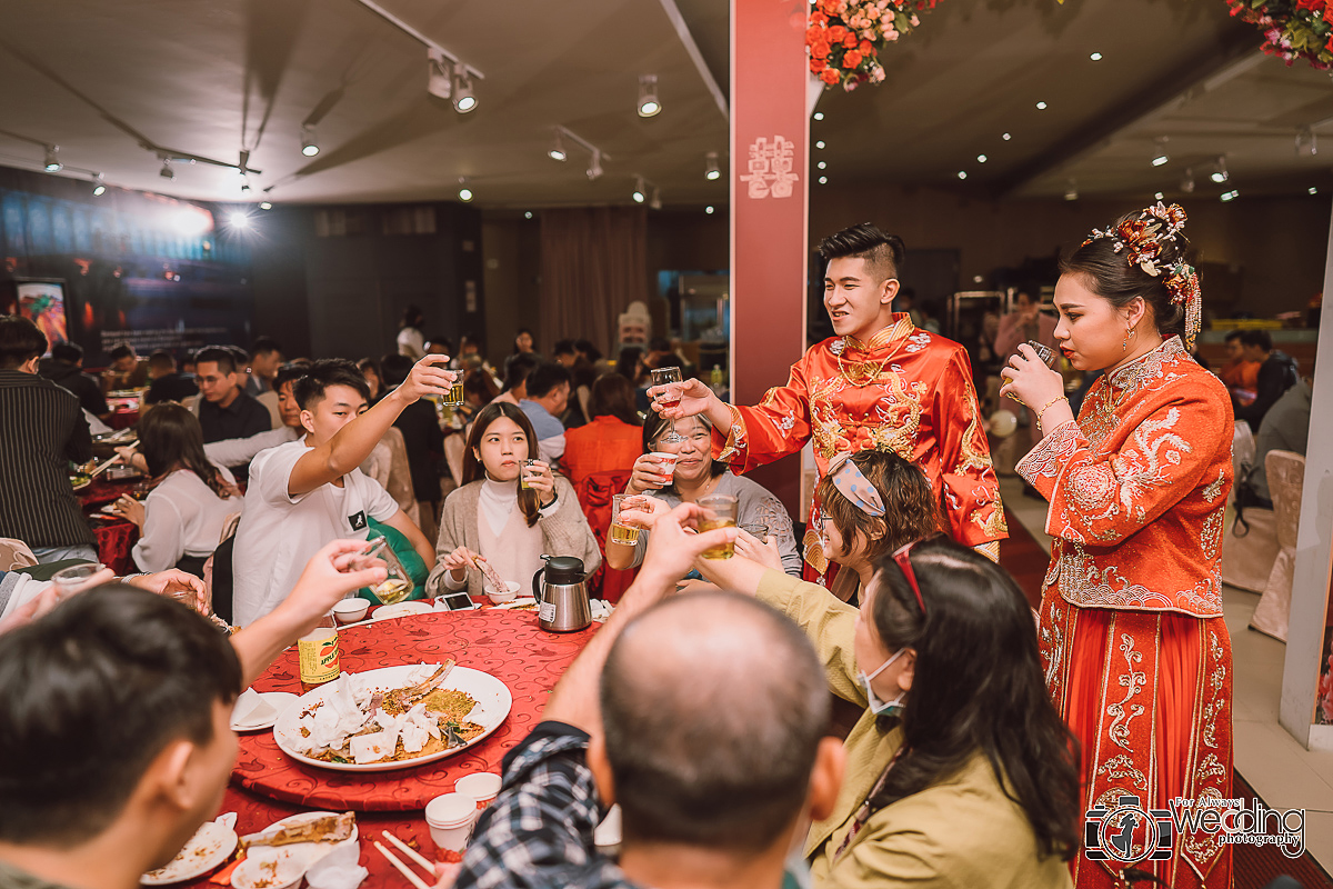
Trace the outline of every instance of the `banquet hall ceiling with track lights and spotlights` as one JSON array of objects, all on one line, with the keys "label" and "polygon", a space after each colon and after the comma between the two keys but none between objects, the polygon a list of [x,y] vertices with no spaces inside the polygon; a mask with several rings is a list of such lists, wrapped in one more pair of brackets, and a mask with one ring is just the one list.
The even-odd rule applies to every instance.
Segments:
[{"label": "banquet hall ceiling with track lights and spotlights", "polygon": [[[40,168],[49,143],[63,175],[221,201],[445,200],[461,176],[483,207],[628,203],[636,175],[668,205],[726,201],[726,177],[704,179],[705,152],[726,168],[726,0],[383,4],[484,73],[476,111],[428,95],[425,47],[356,0],[9,0],[0,165]],[[885,84],[822,95],[812,157],[826,169],[812,176],[1178,195],[1189,167],[1197,196],[1224,191],[1208,180],[1222,155],[1226,188],[1328,191],[1329,165],[1294,139],[1313,125],[1333,151],[1333,84],[1257,56],[1258,41],[1221,0],[944,0],[882,55]],[[656,117],[636,115],[640,75],[659,79]],[[305,157],[312,116],[323,151]],[[600,179],[583,148],[547,157],[556,125],[608,156]],[[140,143],[227,163],[248,149],[263,172],[245,196],[207,164],[165,180]],[[1162,147],[1170,160],[1153,167]]]}]

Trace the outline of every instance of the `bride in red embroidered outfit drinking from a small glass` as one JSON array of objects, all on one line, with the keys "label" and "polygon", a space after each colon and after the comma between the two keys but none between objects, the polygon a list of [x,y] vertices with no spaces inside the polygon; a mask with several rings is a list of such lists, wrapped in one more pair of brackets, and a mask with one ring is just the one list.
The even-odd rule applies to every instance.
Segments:
[{"label": "bride in red embroidered outfit drinking from a small glass", "polygon": [[[1105,371],[1077,420],[1030,347],[1002,373],[1001,393],[1026,403],[1042,432],[1018,473],[1050,501],[1041,656],[1082,745],[1088,809],[1232,796],[1221,544],[1233,419],[1222,383],[1189,355],[1200,293],[1184,225],[1178,205],[1158,203],[1064,261],[1056,341],[1074,368]],[[1170,856],[1154,860],[1152,829],[1116,821],[1072,862],[1080,889],[1124,886],[1126,868],[1168,886],[1232,885],[1217,834],[1173,832]]]}]

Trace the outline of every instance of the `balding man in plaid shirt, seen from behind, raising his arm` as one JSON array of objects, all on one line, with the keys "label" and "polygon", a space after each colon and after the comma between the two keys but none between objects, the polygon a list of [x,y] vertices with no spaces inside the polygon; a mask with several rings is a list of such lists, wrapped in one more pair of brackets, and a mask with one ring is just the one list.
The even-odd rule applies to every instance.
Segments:
[{"label": "balding man in plaid shirt, seen from behind, raising his arm", "polygon": [[[805,634],[752,598],[663,602],[725,528],[653,521],[635,584],[504,760],[456,888],[777,889],[793,841],[833,808],[842,745],[822,737],[824,670]],[[648,516],[643,516],[648,518]],[[593,828],[620,802],[619,864]]]}]

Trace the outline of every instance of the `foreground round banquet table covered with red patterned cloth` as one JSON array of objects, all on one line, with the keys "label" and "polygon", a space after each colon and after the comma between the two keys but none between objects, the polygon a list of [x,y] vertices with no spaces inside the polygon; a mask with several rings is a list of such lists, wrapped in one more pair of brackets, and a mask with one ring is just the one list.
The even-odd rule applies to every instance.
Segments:
[{"label": "foreground round banquet table covered with red patterned cloth", "polygon": [[[483,609],[433,612],[341,628],[339,657],[344,672],[436,664],[452,657],[460,666],[491,673],[509,688],[513,697],[509,716],[491,736],[461,753],[393,772],[307,766],[279,750],[272,729],[241,734],[232,785],[221,810],[236,812],[236,832],[245,834],[299,812],[353,809],[361,836],[361,865],[371,872],[361,885],[367,889],[408,886],[371,840],[388,845],[380,832],[392,830],[427,858],[437,860],[431,830],[421,816],[423,806],[417,802],[452,792],[453,782],[464,774],[499,772],[504,754],[541,720],[551,689],[600,626],[593,624],[577,633],[548,633],[537,628],[533,612]],[[253,688],[300,694],[296,648],[280,654]],[[183,885],[207,888],[211,878],[225,885],[228,870],[224,868],[212,877]]]}]

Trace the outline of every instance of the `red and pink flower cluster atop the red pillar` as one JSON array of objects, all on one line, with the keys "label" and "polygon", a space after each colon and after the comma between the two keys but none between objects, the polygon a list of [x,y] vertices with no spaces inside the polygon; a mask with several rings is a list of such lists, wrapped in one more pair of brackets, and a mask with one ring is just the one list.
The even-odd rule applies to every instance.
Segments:
[{"label": "red and pink flower cluster atop the red pillar", "polygon": [[[1324,0],[1305,0],[1324,3]],[[850,92],[860,84],[881,83],[880,48],[921,24],[918,12],[938,0],[817,0],[805,29],[810,73],[829,87]]]}]

